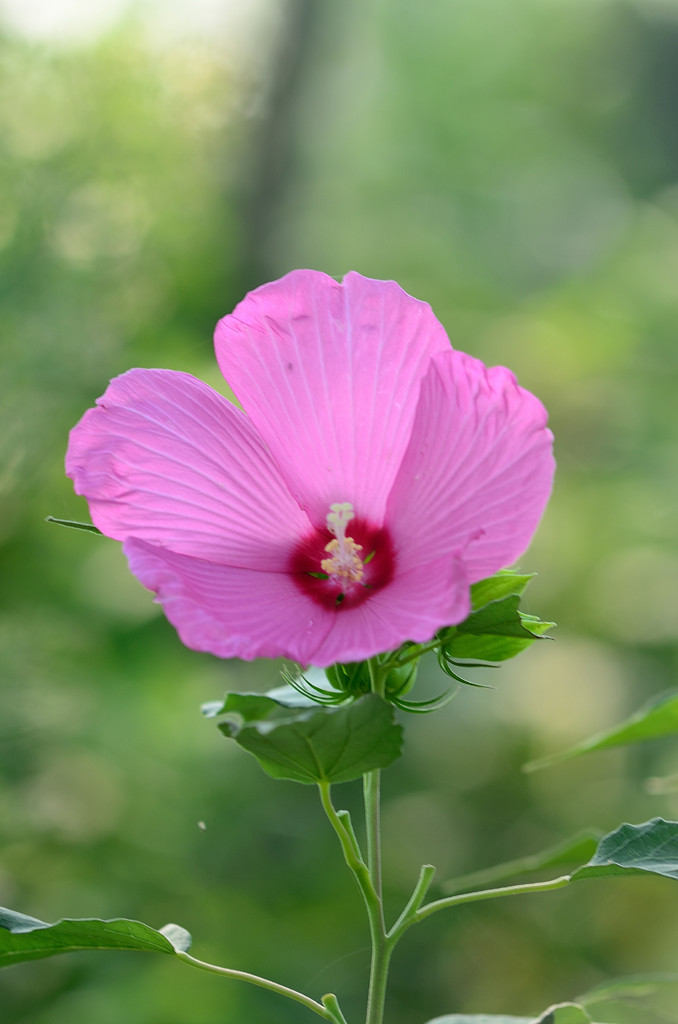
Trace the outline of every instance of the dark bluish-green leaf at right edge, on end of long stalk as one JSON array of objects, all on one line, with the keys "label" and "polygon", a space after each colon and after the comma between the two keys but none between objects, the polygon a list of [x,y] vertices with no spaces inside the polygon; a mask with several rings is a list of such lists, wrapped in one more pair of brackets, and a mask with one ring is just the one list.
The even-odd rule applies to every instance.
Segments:
[{"label": "dark bluish-green leaf at right edge, on end of long stalk", "polygon": [[620,825],[600,840],[591,860],[570,879],[645,872],[678,879],[678,821],[652,818],[640,825]]}]

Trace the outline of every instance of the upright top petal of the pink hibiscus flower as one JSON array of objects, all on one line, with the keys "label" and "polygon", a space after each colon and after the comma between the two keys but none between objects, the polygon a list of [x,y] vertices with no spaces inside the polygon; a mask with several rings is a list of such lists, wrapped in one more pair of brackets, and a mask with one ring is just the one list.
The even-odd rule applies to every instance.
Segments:
[{"label": "upright top petal of the pink hibiscus flower", "polygon": [[420,380],[431,355],[450,348],[430,306],[394,282],[295,270],[224,316],[215,347],[313,524],[349,501],[379,526]]}]

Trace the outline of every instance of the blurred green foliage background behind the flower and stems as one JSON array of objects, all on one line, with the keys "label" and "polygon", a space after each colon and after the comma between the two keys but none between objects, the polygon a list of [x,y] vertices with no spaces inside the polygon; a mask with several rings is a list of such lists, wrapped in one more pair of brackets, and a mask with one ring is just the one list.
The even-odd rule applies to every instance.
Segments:
[{"label": "blurred green foliage background behind the flower and stems", "polygon": [[[359,1019],[367,928],[314,792],[199,713],[280,666],[182,649],[116,544],[45,524],[87,517],[68,431],[131,366],[220,386],[214,323],[293,267],[397,280],[550,410],[557,485],[521,566],[527,610],[560,625],[496,689],[407,722],[393,906],[422,861],[443,881],[678,817],[675,741],[520,771],[676,683],[678,2],[5,0],[0,45],[0,903],[176,921],[196,955],[335,989]],[[676,971],[677,950],[666,880],[463,907],[410,933],[387,1020],[537,1013]],[[311,1019],[140,954],[14,968],[0,1006],[3,1024]]]}]

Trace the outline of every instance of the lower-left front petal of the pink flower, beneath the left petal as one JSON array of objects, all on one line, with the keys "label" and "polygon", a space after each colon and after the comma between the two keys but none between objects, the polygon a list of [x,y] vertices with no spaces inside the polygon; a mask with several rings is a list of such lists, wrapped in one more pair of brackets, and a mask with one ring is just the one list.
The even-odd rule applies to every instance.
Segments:
[{"label": "lower-left front petal of the pink flower, beneath the left petal", "polygon": [[123,550],[134,575],[158,595],[180,640],[194,650],[306,665],[332,628],[333,613],[287,573],[216,565],[134,539]]}]

